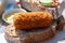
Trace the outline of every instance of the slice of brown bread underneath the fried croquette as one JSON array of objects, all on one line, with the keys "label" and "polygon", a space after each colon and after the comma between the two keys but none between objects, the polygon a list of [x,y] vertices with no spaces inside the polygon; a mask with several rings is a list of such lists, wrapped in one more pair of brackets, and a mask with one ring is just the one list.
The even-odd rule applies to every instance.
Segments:
[{"label": "slice of brown bread underneath the fried croquette", "polygon": [[47,29],[34,29],[34,30],[15,30],[14,25],[9,25],[4,29],[5,39],[11,43],[35,43],[48,40],[52,38],[54,28],[48,27]]}]

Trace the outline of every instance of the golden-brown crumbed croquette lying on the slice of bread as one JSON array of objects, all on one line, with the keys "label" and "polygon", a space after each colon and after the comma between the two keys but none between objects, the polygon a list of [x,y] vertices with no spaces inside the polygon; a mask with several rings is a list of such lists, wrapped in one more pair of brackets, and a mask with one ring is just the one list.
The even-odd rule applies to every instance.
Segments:
[{"label": "golden-brown crumbed croquette lying on the slice of bread", "polygon": [[13,24],[16,29],[31,29],[48,27],[52,24],[53,17],[49,12],[16,13]]}]

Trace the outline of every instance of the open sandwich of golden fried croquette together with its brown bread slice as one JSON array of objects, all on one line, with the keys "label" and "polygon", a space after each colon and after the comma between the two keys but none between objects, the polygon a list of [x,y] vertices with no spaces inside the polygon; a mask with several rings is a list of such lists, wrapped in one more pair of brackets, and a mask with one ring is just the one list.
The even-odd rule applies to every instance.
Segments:
[{"label": "open sandwich of golden fried croquette together with its brown bread slice", "polygon": [[5,27],[5,39],[10,43],[39,43],[55,34],[53,17],[48,12],[16,13],[13,24]]}]

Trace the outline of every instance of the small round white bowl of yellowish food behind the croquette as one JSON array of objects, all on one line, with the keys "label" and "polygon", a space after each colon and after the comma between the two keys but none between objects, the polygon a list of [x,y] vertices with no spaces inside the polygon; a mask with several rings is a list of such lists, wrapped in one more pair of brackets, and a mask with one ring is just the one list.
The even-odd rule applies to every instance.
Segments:
[{"label": "small round white bowl of yellowish food behind the croquette", "polygon": [[13,23],[13,16],[15,13],[18,12],[26,12],[24,9],[13,9],[13,10],[9,10],[6,12],[4,12],[2,14],[2,19],[6,23],[6,24],[12,24]]}]

